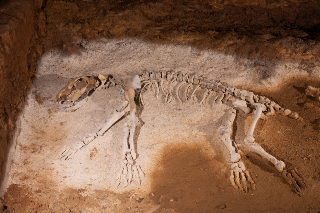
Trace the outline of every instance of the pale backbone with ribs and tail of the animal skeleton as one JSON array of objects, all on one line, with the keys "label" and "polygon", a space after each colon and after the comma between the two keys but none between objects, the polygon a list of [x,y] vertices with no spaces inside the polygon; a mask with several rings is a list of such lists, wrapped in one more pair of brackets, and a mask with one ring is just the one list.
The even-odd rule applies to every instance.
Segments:
[{"label": "pale backbone with ribs and tail of the animal skeleton", "polygon": [[[205,90],[203,97],[201,98],[200,104],[204,101],[204,99],[208,96],[210,91],[213,93],[213,95],[216,95],[216,103],[221,103],[221,101],[227,101],[231,96],[234,96],[236,99],[245,100],[247,103],[250,104],[250,108],[254,109],[253,103],[261,103],[266,106],[266,110],[264,110],[265,115],[272,115],[275,113],[275,111],[284,111],[282,107],[275,103],[274,101],[271,101],[265,96],[256,95],[253,92],[247,91],[245,89],[238,89],[231,85],[225,86],[221,84],[220,82],[217,82],[215,80],[207,80],[202,76],[198,76],[196,74],[189,74],[189,73],[183,73],[183,72],[174,72],[174,71],[160,71],[160,72],[145,72],[141,75],[139,75],[141,80],[141,91],[140,91],[140,98],[139,103],[141,102],[143,104],[142,100],[142,92],[145,87],[147,87],[150,84],[156,84],[157,89],[157,95],[159,94],[159,91],[164,93],[165,95],[165,103],[170,103],[172,97],[175,97],[177,99],[177,102],[182,103],[180,97],[179,97],[179,89],[182,85],[188,84],[185,88],[185,96],[187,96],[187,90],[190,86],[197,85],[195,89],[192,90],[191,97],[196,92],[196,89],[203,88]],[[109,79],[111,83],[107,84],[109,86],[114,86],[114,79]],[[172,83],[177,81],[177,88],[175,92],[172,92]],[[164,82],[167,82],[169,84],[168,88],[164,90],[163,84]],[[106,85],[106,86],[107,86]],[[160,85],[160,87],[159,87]],[[186,98],[186,97],[185,97]],[[291,110],[290,110],[291,111]],[[291,113],[296,114],[296,113]],[[292,116],[291,116],[292,117]],[[297,119],[297,118],[296,118]]]}]

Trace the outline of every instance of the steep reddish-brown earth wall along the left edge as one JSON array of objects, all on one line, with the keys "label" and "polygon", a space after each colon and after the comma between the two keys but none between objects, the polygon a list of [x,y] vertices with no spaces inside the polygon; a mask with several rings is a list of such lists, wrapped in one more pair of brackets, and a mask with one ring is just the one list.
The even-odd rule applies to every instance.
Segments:
[{"label": "steep reddish-brown earth wall along the left edge", "polygon": [[0,2],[0,183],[16,121],[42,53],[42,0]]}]

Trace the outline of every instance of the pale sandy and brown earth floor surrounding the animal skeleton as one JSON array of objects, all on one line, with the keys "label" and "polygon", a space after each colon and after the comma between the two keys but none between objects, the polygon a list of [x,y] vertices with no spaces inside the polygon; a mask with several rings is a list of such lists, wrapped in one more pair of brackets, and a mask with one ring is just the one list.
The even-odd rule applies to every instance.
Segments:
[{"label": "pale sandy and brown earth floor surrounding the animal skeleton", "polygon": [[[33,89],[20,117],[21,131],[10,156],[5,212],[319,211],[320,103],[303,93],[303,88],[319,82],[307,77],[291,79],[270,89],[280,80],[279,73],[295,72],[293,65],[287,64],[293,67],[287,70],[275,65],[276,77],[264,79],[259,73],[247,75],[255,73],[248,59],[186,45],[105,39],[82,40],[67,50],[52,49],[38,61]],[[276,114],[259,120],[254,137],[288,168],[304,173],[308,187],[303,196],[293,192],[272,164],[246,155],[242,160],[256,189],[244,193],[231,186],[230,155],[217,131],[230,107],[216,104],[212,110],[210,100],[198,104],[203,94],[200,89],[197,100],[183,104],[174,98],[164,104],[164,95],[156,99],[153,87],[145,91],[145,105],[137,106],[136,162],[144,172],[141,185],[134,180],[130,186],[116,186],[127,118],[78,150],[73,158],[60,159],[62,150],[73,150],[77,141],[98,131],[111,110],[121,104],[118,87],[98,88],[83,107],[64,112],[55,96],[68,79],[98,74],[117,77],[144,70],[197,72],[208,79],[251,88],[297,112],[303,119]],[[252,118],[252,114],[238,112],[236,143],[242,143]]]}]

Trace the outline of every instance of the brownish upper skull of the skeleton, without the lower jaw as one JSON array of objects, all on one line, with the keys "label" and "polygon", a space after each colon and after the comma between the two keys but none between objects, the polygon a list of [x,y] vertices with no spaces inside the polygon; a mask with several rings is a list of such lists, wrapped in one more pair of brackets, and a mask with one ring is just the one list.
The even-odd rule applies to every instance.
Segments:
[{"label": "brownish upper skull of the skeleton, without the lower jaw", "polygon": [[56,96],[57,102],[72,101],[75,102],[84,93],[88,94],[92,89],[99,85],[99,80],[93,76],[79,76],[68,80],[68,85],[63,87]]}]

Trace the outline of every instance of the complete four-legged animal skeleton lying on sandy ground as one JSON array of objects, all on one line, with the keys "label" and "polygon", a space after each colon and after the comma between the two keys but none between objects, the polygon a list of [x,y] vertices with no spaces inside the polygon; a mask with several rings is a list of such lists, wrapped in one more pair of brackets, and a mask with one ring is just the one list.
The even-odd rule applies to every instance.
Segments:
[{"label": "complete four-legged animal skeleton lying on sandy ground", "polygon": [[[99,79],[99,80],[98,80]],[[164,90],[164,81],[168,82],[167,90]],[[177,84],[175,93],[172,92],[174,83]],[[220,82],[214,80],[206,80],[197,75],[190,75],[189,73],[176,73],[176,72],[145,72],[142,75],[128,75],[117,79],[107,79],[103,75],[99,75],[97,79],[93,76],[86,77],[80,76],[72,78],[68,81],[68,85],[63,87],[58,93],[56,100],[62,103],[62,108],[68,111],[74,111],[88,100],[89,92],[99,88],[109,88],[115,85],[120,85],[124,94],[124,101],[117,108],[113,110],[110,118],[97,133],[91,133],[82,141],[77,144],[74,150],[68,151],[66,148],[62,150],[60,158],[65,160],[72,158],[80,148],[88,145],[95,138],[103,135],[116,121],[125,116],[127,110],[130,111],[128,122],[124,126],[124,145],[123,145],[123,168],[119,172],[117,185],[123,183],[124,186],[131,184],[132,180],[138,180],[141,183],[141,176],[144,175],[140,166],[136,164],[135,160],[137,154],[135,153],[133,136],[135,127],[139,123],[139,118],[136,117],[136,103],[134,101],[135,95],[138,94],[139,104],[144,104],[142,93],[148,86],[155,85],[156,98],[159,97],[161,91],[164,95],[164,103],[170,103],[175,96],[177,102],[185,103],[192,100],[196,100],[195,93],[199,88],[204,89],[203,96],[199,101],[199,104],[204,103],[204,100],[211,96],[213,100],[212,108],[215,104],[227,104],[233,107],[233,110],[229,112],[228,120],[220,126],[219,133],[221,140],[228,148],[231,156],[231,170],[230,181],[235,188],[240,188],[244,192],[248,192],[247,183],[250,182],[251,188],[254,190],[255,183],[252,180],[249,171],[246,169],[244,163],[241,161],[239,148],[235,141],[232,140],[231,135],[233,133],[233,122],[236,117],[236,109],[242,110],[245,114],[248,114],[253,109],[254,118],[247,136],[244,139],[244,144],[241,146],[244,150],[256,153],[269,162],[274,164],[275,168],[282,173],[284,179],[292,186],[294,191],[298,194],[302,194],[301,189],[306,188],[305,178],[296,169],[285,169],[285,164],[281,160],[277,160],[276,157],[267,153],[258,143],[254,142],[253,131],[259,120],[265,119],[268,115],[273,115],[276,111],[279,111],[283,115],[287,115],[291,118],[297,119],[299,116],[297,113],[291,112],[291,110],[284,110],[281,107],[270,101],[268,98],[260,95],[255,95],[244,89],[237,89],[233,86],[224,86]],[[184,89],[184,100],[182,101],[179,96],[180,88],[187,84]],[[142,87],[142,88],[141,88]],[[190,89],[192,88],[192,89]],[[190,93],[191,92],[191,93]],[[173,95],[174,94],[174,95]],[[188,96],[188,94],[190,94]],[[78,99],[82,99],[76,102]],[[129,104],[129,109],[127,105]]]}]

